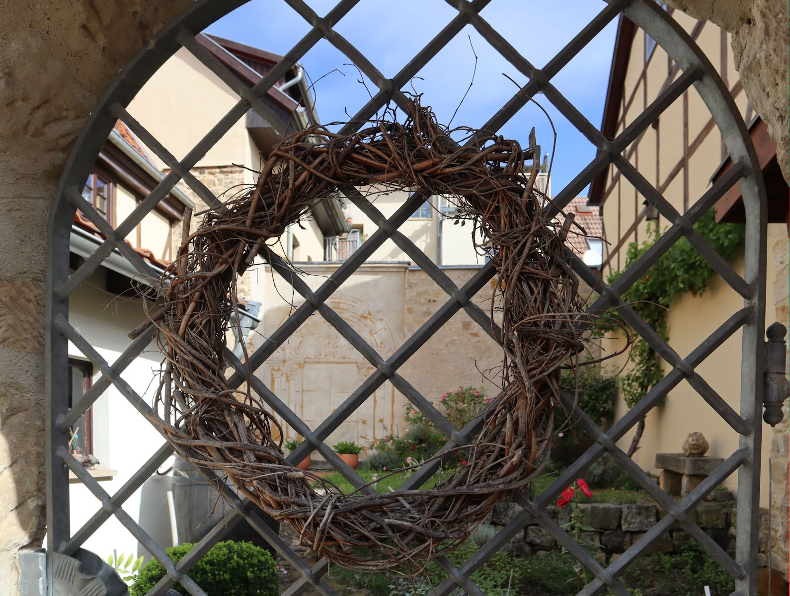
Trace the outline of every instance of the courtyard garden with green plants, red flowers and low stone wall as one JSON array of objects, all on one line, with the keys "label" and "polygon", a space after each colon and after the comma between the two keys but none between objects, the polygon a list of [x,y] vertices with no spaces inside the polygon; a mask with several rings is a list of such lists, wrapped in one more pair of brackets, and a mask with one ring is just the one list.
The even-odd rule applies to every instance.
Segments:
[{"label": "courtyard garden with green plants, red flowers and low stone wall", "polygon": [[[613,414],[615,380],[592,367],[582,367],[578,375],[578,399],[582,409],[600,425],[606,425]],[[566,375],[563,383],[570,386],[574,379]],[[491,398],[472,387],[445,392],[437,400],[442,415],[457,429],[463,428],[490,402]],[[570,425],[561,407],[557,407],[555,415],[560,430],[552,444],[551,460],[529,486],[527,496],[530,498],[547,489],[562,470],[592,444],[581,429]],[[393,429],[371,444],[357,470],[378,493],[399,489],[416,474],[421,463],[446,443],[442,432],[416,408],[409,406],[404,420],[402,429]],[[449,478],[453,470],[467,464],[465,457],[463,450],[446,457],[438,472],[427,477],[421,488],[430,489]],[[346,494],[358,492],[336,471],[320,475],[321,478],[314,482],[318,490],[329,483]],[[657,478],[655,480],[657,482]],[[735,535],[734,508],[732,493],[720,487],[699,504],[691,516],[722,548],[731,551]],[[497,504],[485,523],[464,545],[449,553],[448,559],[456,566],[464,564],[521,511],[521,506],[515,503]],[[665,514],[649,493],[608,455],[589,467],[584,478],[578,478],[574,485],[564,489],[556,503],[547,508],[547,515],[604,565],[620,557]],[[299,549],[303,557],[318,559],[318,554],[300,546],[295,536],[292,548]],[[729,594],[733,589],[732,579],[722,573],[717,562],[677,524],[646,554],[622,578],[633,594],[684,596],[704,594],[705,587],[709,587],[715,596]],[[284,586],[298,576],[296,570],[284,565]],[[431,587],[438,586],[444,579],[446,573],[436,563],[416,573],[407,568],[366,573],[333,566],[328,576],[330,585],[342,594],[370,596],[431,594]],[[472,580],[488,596],[576,594],[592,579],[592,573],[531,518],[503,549],[472,575]]]}]

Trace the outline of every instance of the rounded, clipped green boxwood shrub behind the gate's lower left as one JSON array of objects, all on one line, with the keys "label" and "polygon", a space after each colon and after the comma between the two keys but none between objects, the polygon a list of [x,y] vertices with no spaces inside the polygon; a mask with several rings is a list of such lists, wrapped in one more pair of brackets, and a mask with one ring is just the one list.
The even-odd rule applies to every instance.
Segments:
[{"label": "rounded, clipped green boxwood shrub behind the gate's lower left", "polygon": [[[192,549],[186,542],[166,549],[167,555],[178,563]],[[131,596],[145,596],[166,575],[156,559],[143,565]],[[187,573],[209,596],[277,596],[280,580],[277,567],[268,551],[250,542],[228,540],[213,546]],[[181,594],[189,594],[180,583],[173,586]]]}]

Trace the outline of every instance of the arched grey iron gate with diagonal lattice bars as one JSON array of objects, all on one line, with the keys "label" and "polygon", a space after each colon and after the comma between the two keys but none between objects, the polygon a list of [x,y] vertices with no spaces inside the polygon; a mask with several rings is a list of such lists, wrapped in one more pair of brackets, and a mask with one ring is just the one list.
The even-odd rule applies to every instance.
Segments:
[{"label": "arched grey iron gate with diagonal lattice bars", "polygon": [[[565,189],[554,198],[547,206],[551,215],[556,215],[573,199],[577,193],[584,189],[596,174],[613,164],[631,184],[653,204],[660,214],[672,227],[635,263],[623,273],[618,281],[609,287],[595,272],[592,272],[579,258],[568,251],[568,263],[576,275],[588,283],[600,298],[590,306],[589,312],[603,313],[606,309],[615,307],[636,332],[664,361],[672,367],[671,371],[648,392],[643,399],[627,414],[620,418],[607,432],[602,431],[578,407],[571,416],[589,435],[596,440],[592,447],[581,455],[571,466],[560,474],[559,478],[544,490],[535,500],[530,500],[524,494],[517,494],[515,500],[521,504],[523,510],[513,518],[491,541],[483,545],[469,560],[460,567],[455,567],[446,557],[438,557],[436,562],[447,573],[447,579],[435,588],[436,594],[450,594],[456,587],[461,587],[468,594],[483,596],[479,587],[469,579],[472,572],[480,568],[498,549],[505,545],[514,534],[517,534],[534,517],[541,527],[549,532],[560,545],[564,546],[576,557],[581,564],[588,568],[596,579],[585,587],[579,594],[597,594],[608,587],[611,592],[630,594],[622,584],[617,581],[630,563],[632,563],[645,549],[673,523],[677,522],[687,531],[706,551],[708,551],[727,572],[735,578],[735,592],[739,596],[754,596],[757,585],[757,532],[758,532],[758,496],[759,496],[759,459],[760,437],[762,424],[762,350],[763,329],[765,322],[765,275],[766,275],[766,193],[763,187],[762,174],[754,147],[743,119],[738,114],[735,102],[720,80],[709,60],[695,45],[682,28],[671,17],[660,9],[652,0],[606,0],[608,6],[587,24],[565,47],[552,58],[543,69],[537,69],[510,43],[496,32],[480,16],[480,11],[491,0],[446,0],[450,6],[457,9],[457,14],[442,31],[434,36],[421,51],[393,78],[386,78],[375,68],[367,58],[356,50],[343,36],[333,29],[333,25],[359,0],[340,0],[325,17],[318,17],[303,0],[285,0],[308,24],[310,31],[296,43],[284,58],[266,73],[258,84],[247,88],[228,71],[212,54],[196,42],[194,36],[209,24],[223,17],[246,0],[233,0],[232,2],[219,2],[218,0],[198,0],[188,9],[167,24],[156,34],[147,46],[141,50],[130,63],[122,69],[119,76],[107,89],[100,99],[91,116],[88,118],[80,137],[73,148],[73,152],[66,163],[64,174],[58,184],[55,203],[51,211],[48,224],[47,242],[47,317],[46,317],[46,422],[47,422],[47,544],[49,548],[58,553],[74,553],[92,535],[101,524],[115,515],[117,519],[133,534],[152,556],[160,561],[167,570],[167,575],[154,587],[149,594],[163,594],[173,583],[179,582],[193,596],[205,596],[205,592],[190,579],[187,574],[190,568],[241,519],[246,519],[280,555],[294,565],[302,573],[301,578],[289,587],[284,594],[296,596],[303,594],[308,587],[314,586],[326,596],[333,596],[335,592],[322,579],[329,565],[321,559],[310,568],[299,555],[280,539],[269,528],[254,505],[249,500],[241,500],[236,494],[224,486],[223,496],[232,505],[231,512],[205,536],[194,549],[190,551],[178,564],[167,557],[164,549],[142,528],[134,522],[122,508],[124,501],[131,496],[146,478],[171,455],[172,450],[164,444],[160,447],[142,467],[122,486],[114,495],[109,495],[101,485],[77,462],[66,449],[68,437],[67,429],[111,384],[119,390],[138,410],[150,410],[148,403],[134,392],[134,389],[122,379],[121,373],[149,345],[154,337],[155,328],[149,328],[126,348],[123,354],[112,364],[106,362],[100,354],[83,338],[68,321],[68,298],[100,267],[103,260],[114,250],[119,251],[140,272],[142,279],[154,279],[156,275],[130,246],[126,245],[123,238],[134,228],[137,223],[175,186],[179,180],[186,182],[190,188],[209,206],[222,209],[221,202],[213,193],[193,174],[190,169],[194,167],[208,148],[213,146],[224,133],[246,111],[253,109],[265,115],[266,107],[260,98],[299,58],[320,39],[332,43],[347,58],[376,85],[378,91],[370,101],[355,115],[355,121],[370,118],[376,111],[393,101],[397,106],[404,108],[405,96],[401,92],[408,81],[427,64],[446,43],[457,35],[467,24],[471,24],[487,43],[506,58],[519,73],[528,78],[528,82],[510,98],[502,108],[483,126],[484,129],[495,132],[504,122],[507,122],[518,110],[529,101],[536,92],[543,92],[544,96],[557,108],[593,145],[598,148],[596,157],[583,168]],[[660,96],[653,101],[622,133],[614,140],[605,138],[564,96],[551,84],[551,78],[566,66],[582,47],[596,36],[606,24],[610,23],[620,13],[634,21],[649,36],[656,39],[656,43],[667,51],[670,57],[679,65],[679,77],[662,90]],[[175,51],[185,47],[195,58],[220,77],[225,84],[239,95],[239,102],[205,135],[195,147],[179,160],[167,151],[151,133],[145,130],[137,121],[126,112],[134,94],[148,81],[153,73],[170,58]],[[733,167],[716,183],[711,186],[685,214],[681,215],[668,201],[661,196],[658,190],[651,185],[622,155],[624,149],[639,134],[646,129],[655,118],[663,112],[691,85],[697,89],[710,113],[713,115],[722,137],[727,144],[732,156]],[[113,230],[109,224],[81,197],[80,188],[87,177],[100,148],[107,140],[115,120],[120,119],[137,137],[146,144],[157,156],[167,163],[171,171],[156,186],[137,208]],[[353,129],[350,123],[344,126],[341,133]],[[469,144],[476,141],[472,138]],[[693,224],[720,198],[735,182],[739,182],[746,206],[747,240],[745,247],[745,279],[739,276],[732,267],[724,261],[707,243],[694,231]],[[304,301],[269,337],[269,340],[254,354],[250,355],[249,365],[254,371],[265,361],[277,347],[288,338],[299,325],[307,320],[313,313],[319,313],[343,335],[355,349],[363,354],[364,358],[374,365],[375,372],[359,389],[346,399],[346,401],[321,425],[311,430],[305,425],[292,410],[265,387],[258,377],[246,378],[246,365],[243,365],[228,350],[226,357],[235,373],[231,377],[231,386],[238,386],[243,381],[249,381],[261,398],[272,407],[289,425],[305,437],[303,444],[289,455],[292,462],[298,462],[307,455],[308,450],[316,449],[332,463],[333,467],[343,474],[352,484],[364,484],[359,474],[346,466],[334,452],[324,444],[324,440],[340,422],[350,415],[360,403],[386,380],[402,392],[416,407],[426,414],[432,422],[438,425],[450,442],[443,451],[447,452],[458,444],[467,444],[469,439],[480,429],[482,417],[469,422],[464,429],[455,429],[436,410],[423,395],[420,395],[408,383],[397,369],[427,341],[442,324],[449,320],[453,314],[464,309],[489,334],[494,330],[491,320],[472,303],[472,297],[493,276],[494,268],[487,264],[480,268],[463,287],[457,287],[442,269],[432,263],[430,259],[418,249],[408,238],[398,231],[398,228],[415,208],[422,204],[427,197],[419,193],[412,193],[407,201],[397,212],[387,219],[375,208],[370,201],[356,189],[344,189],[348,199],[357,205],[362,212],[369,216],[378,226],[377,231],[367,238],[360,248],[340,264],[329,279],[316,291],[311,291],[303,279],[296,276],[288,264],[280,258],[270,261],[273,269],[288,280]],[[79,268],[69,275],[69,240],[70,229],[74,212],[80,211],[99,227],[106,236],[91,257],[81,264]],[[448,294],[449,299],[434,315],[426,321],[396,352],[386,361],[379,356],[373,347],[368,345],[353,329],[325,304],[329,295],[343,283],[356,268],[387,238],[391,238],[405,253],[418,264],[434,282]],[[629,305],[626,305],[621,296],[632,283],[652,266],[658,258],[679,238],[687,238],[694,247],[709,262],[714,270],[744,299],[744,307],[732,314],[717,328],[703,343],[693,350],[686,358],[681,358],[648,324],[645,323]],[[742,384],[740,413],[736,412],[721,399],[705,380],[695,372],[699,365],[709,354],[712,354],[731,335],[743,328],[742,346]],[[68,395],[65,382],[66,365],[68,359],[68,342],[71,340],[75,346],[88,358],[102,377],[96,381],[71,410],[68,409]],[[615,444],[616,440],[638,422],[656,403],[667,395],[680,380],[686,379],[690,385],[713,407],[728,424],[739,433],[739,448],[725,459],[708,478],[705,479],[687,497],[675,504],[663,490],[661,490],[640,467],[638,467]],[[566,405],[573,406],[572,400]],[[615,462],[630,474],[643,489],[645,489],[667,512],[656,525],[634,543],[626,553],[623,553],[608,568],[603,568],[597,560],[574,541],[565,530],[547,515],[546,508],[559,493],[575,478],[578,478],[604,453],[609,453]],[[409,478],[404,489],[418,488],[436,470],[439,462],[423,466]],[[696,524],[687,517],[687,512],[693,508],[707,493],[713,490],[724,478],[733,471],[739,470],[738,477],[738,519],[735,559],[725,553],[723,549],[713,542]],[[76,533],[71,534],[69,517],[69,484],[68,474],[72,470],[77,478],[100,500],[101,508],[83,525]],[[213,472],[201,469],[207,478],[215,478]],[[215,478],[216,479],[216,478]],[[368,488],[368,490],[372,490]],[[50,575],[51,577],[51,575]]]}]

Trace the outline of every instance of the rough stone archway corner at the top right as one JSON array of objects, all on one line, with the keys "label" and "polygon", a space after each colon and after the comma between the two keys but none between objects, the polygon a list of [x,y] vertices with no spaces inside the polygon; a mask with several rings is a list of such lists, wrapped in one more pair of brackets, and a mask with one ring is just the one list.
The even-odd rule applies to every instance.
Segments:
[{"label": "rough stone archway corner at the top right", "polygon": [[766,121],[785,180],[790,180],[788,138],[788,3],[784,0],[668,0],[691,17],[732,33],[732,54],[743,90]]}]

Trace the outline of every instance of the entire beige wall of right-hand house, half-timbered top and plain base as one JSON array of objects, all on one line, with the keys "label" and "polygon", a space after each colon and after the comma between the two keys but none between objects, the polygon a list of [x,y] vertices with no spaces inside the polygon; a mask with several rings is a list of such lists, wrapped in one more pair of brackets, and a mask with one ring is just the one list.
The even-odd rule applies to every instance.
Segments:
[{"label": "entire beige wall of right-hand house, half-timbered top and plain base", "polygon": [[[750,124],[755,114],[743,92],[739,73],[735,70],[731,39],[727,32],[710,22],[699,22],[675,11],[672,14],[683,28],[696,39],[698,45],[713,62],[725,84],[732,90],[740,115]],[[656,99],[661,89],[676,79],[677,69],[667,54],[656,47],[645,61],[646,36],[637,31],[630,61],[626,71],[623,101],[619,111],[617,133],[634,121],[645,107]],[[624,117],[623,117],[624,114]],[[645,133],[625,152],[630,163],[645,174],[672,205],[683,212],[693,205],[710,187],[710,178],[728,155],[727,148],[714,125],[702,99],[690,88],[671,107],[645,130]],[[648,222],[643,204],[644,197],[611,167],[604,186],[602,216],[604,235],[608,244],[604,248],[604,279],[626,264],[626,249],[632,242],[650,240]],[[634,222],[638,222],[634,226]],[[668,227],[659,217],[661,230]],[[784,224],[769,224],[769,258],[767,271],[766,324],[777,320],[788,324],[787,297],[788,231]],[[743,276],[743,251],[731,262],[736,272]],[[774,308],[774,305],[776,307]],[[713,276],[701,296],[683,294],[675,300],[667,313],[669,344],[681,356],[690,354],[705,338],[713,333],[727,318],[743,307],[743,298],[736,294],[719,276]],[[609,350],[622,346],[622,341],[611,341]],[[712,356],[695,369],[697,373],[734,410],[740,404],[741,333],[732,335]],[[663,362],[663,361],[662,361]],[[614,358],[612,369],[630,366],[627,355]],[[663,363],[664,372],[672,368]],[[617,417],[627,410],[622,399],[617,403]],[[785,408],[786,410],[786,408]],[[787,415],[787,414],[785,414]],[[680,452],[683,440],[692,431],[701,431],[710,444],[709,455],[728,457],[738,448],[739,435],[686,381],[669,392],[665,402],[654,408],[645,418],[645,431],[634,460],[645,470],[657,473],[655,455],[660,452]],[[634,429],[619,441],[619,446],[630,446]],[[775,515],[785,515],[784,523],[774,520],[774,567],[787,572],[787,425],[772,429],[762,426],[762,458],[760,505],[767,508],[773,503]],[[769,455],[774,463],[769,470]],[[769,477],[773,486],[769,493]],[[724,485],[735,489],[737,473]],[[784,499],[784,500],[783,500]],[[781,508],[781,509],[780,509]],[[779,521],[779,523],[777,523]],[[777,530],[778,528],[778,530]],[[782,554],[784,553],[784,555]]]}]

